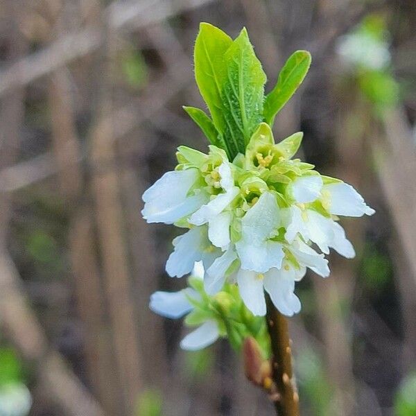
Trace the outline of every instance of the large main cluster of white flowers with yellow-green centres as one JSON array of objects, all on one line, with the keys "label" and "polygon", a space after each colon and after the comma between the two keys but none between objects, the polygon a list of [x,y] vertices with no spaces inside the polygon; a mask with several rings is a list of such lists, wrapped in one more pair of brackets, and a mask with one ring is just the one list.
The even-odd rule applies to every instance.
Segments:
[{"label": "large main cluster of white flowers with yellow-green centres", "polygon": [[[351,185],[293,159],[301,141],[299,132],[276,144],[270,126],[260,123],[245,154],[232,160],[213,145],[208,154],[178,148],[175,171],[143,195],[148,223],[187,229],[173,240],[168,275],[187,275],[202,261],[207,294],[236,283],[254,315],[266,314],[266,291],[276,308],[291,316],[300,311],[293,291],[306,268],[327,277],[330,248],[354,257],[338,216],[372,215],[374,210]],[[188,293],[187,301],[192,300]],[[212,339],[218,331],[213,330]]]}]

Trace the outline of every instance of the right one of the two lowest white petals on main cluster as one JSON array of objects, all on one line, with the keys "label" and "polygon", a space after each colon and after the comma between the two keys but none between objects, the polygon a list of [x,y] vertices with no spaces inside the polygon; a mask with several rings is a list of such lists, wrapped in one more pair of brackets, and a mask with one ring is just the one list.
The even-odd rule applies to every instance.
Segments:
[{"label": "right one of the two lowest white petals on main cluster", "polygon": [[263,284],[276,308],[284,315],[292,316],[300,311],[301,306],[299,298],[293,293],[296,272],[293,267],[288,266],[287,269],[270,269],[264,277]]}]

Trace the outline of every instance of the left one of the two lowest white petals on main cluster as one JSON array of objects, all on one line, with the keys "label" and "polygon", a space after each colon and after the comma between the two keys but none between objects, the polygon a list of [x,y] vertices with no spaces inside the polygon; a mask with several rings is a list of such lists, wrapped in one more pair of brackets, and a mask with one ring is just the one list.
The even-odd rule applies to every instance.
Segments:
[{"label": "left one of the two lowest white petals on main cluster", "polygon": [[237,283],[241,298],[253,315],[266,315],[263,280],[259,278],[258,273],[240,269],[237,273]]}]

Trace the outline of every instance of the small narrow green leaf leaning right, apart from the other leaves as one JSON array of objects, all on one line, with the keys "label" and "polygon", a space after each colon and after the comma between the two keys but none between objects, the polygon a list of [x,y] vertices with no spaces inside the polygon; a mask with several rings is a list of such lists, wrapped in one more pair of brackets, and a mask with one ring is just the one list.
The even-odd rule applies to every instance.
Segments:
[{"label": "small narrow green leaf leaning right, apart from the other leaves", "polygon": [[273,125],[276,114],[302,84],[311,66],[311,60],[311,54],[308,51],[296,51],[286,61],[279,73],[275,88],[264,101],[263,115],[268,124]]}]

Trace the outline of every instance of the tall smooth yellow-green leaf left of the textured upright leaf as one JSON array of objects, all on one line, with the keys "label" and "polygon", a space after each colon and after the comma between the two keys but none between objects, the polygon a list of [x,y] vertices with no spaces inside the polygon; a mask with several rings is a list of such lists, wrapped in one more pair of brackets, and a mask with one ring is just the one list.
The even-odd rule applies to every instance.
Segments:
[{"label": "tall smooth yellow-green leaf left of the textured upright leaf", "polygon": [[224,54],[231,45],[231,37],[219,28],[208,23],[200,24],[194,49],[195,78],[214,125],[220,132],[225,129],[221,98],[227,76]]}]

